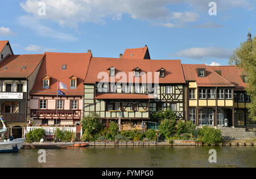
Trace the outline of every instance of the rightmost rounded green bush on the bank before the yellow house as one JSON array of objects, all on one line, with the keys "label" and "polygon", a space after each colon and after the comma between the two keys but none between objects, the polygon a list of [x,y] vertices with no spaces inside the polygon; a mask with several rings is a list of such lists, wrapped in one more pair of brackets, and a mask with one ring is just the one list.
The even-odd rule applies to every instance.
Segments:
[{"label": "rightmost rounded green bush on the bank before the yellow house", "polygon": [[221,131],[219,129],[213,129],[212,127],[204,126],[199,130],[199,135],[203,137],[204,143],[217,144],[222,140]]}]

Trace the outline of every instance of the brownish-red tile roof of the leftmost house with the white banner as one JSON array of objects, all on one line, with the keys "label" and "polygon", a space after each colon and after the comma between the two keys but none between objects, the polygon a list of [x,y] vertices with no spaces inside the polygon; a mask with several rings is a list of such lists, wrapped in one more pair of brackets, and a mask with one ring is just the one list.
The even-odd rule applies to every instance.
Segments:
[{"label": "brownish-red tile roof of the leftmost house with the white banner", "polygon": [[10,55],[0,63],[0,78],[28,78],[43,57],[44,54]]}]

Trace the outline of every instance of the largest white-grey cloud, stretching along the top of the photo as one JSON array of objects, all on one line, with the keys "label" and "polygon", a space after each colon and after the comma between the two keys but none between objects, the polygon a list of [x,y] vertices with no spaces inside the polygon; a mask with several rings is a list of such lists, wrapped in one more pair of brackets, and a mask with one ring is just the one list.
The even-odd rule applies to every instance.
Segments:
[{"label": "largest white-grey cloud, stretching along the top of the photo", "polygon": [[[38,2],[41,1],[46,3],[46,16],[40,16],[38,13]],[[20,3],[20,6],[36,19],[47,19],[68,27],[77,27],[79,23],[84,22],[104,24],[106,18],[120,20],[122,14],[129,14],[133,19],[175,24],[195,22],[199,18],[195,12],[172,12],[167,8],[167,5],[176,3],[180,2],[174,0],[27,0]]]}]

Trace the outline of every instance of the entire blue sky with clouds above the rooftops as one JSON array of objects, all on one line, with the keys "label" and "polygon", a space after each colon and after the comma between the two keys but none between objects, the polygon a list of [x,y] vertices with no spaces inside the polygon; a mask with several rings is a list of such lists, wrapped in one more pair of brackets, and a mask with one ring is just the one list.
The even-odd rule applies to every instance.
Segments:
[{"label": "entire blue sky with clouds above the rooftops", "polygon": [[228,65],[255,36],[256,0],[0,0],[0,40],[14,54],[118,58],[148,46],[151,59]]}]

